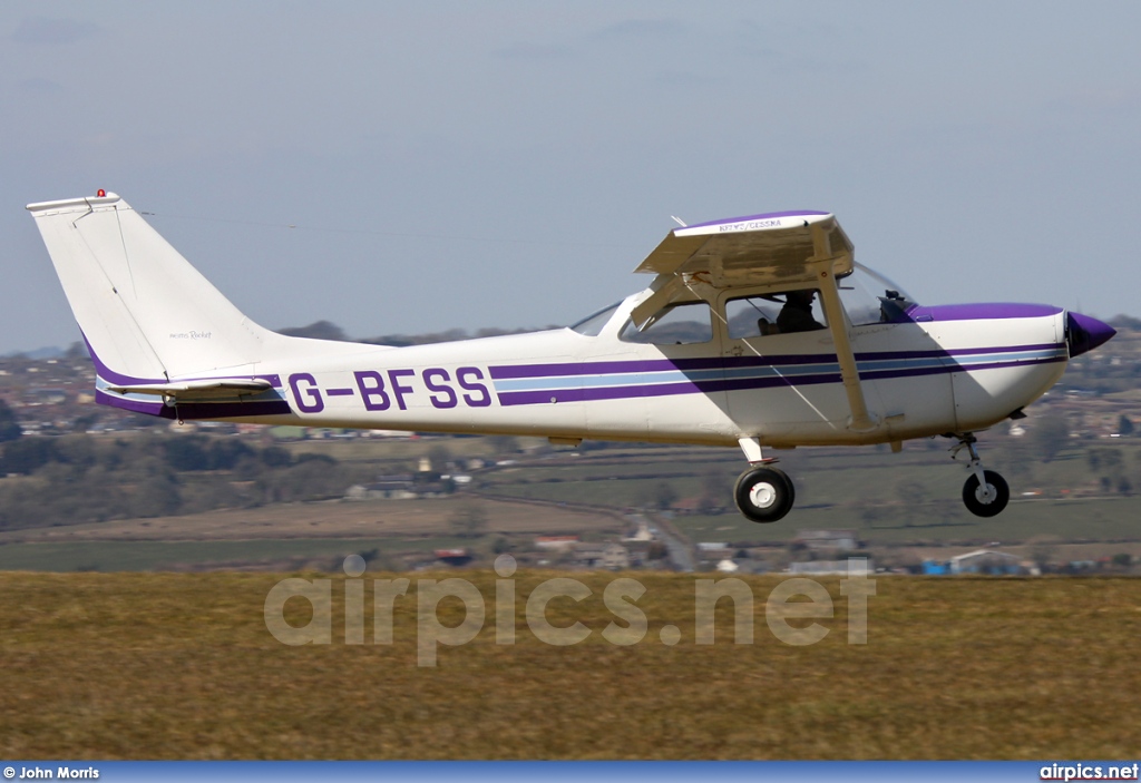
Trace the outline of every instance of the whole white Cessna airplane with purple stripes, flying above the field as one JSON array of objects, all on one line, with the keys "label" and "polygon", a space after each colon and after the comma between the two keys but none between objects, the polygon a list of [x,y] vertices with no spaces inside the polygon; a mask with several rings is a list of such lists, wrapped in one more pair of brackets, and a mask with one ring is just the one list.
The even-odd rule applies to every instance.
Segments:
[{"label": "whole white Cessna airplane with purple stripes, flying above the field", "polygon": [[[1114,336],[1039,304],[922,307],[853,260],[826,212],[683,226],[645,291],[577,324],[408,348],[286,337],[242,315],[112,193],[30,204],[97,369],[103,405],[171,419],[739,444],[741,512],[775,522],[788,476],[763,446],[945,435],[963,501],[1006,505],[974,433]],[[680,221],[679,221],[680,222]]]}]

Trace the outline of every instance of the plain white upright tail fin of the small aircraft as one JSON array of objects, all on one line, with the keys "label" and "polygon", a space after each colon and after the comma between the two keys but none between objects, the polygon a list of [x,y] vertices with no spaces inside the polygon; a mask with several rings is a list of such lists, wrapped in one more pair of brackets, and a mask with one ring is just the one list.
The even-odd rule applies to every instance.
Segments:
[{"label": "plain white upright tail fin of the small aircraft", "polygon": [[286,340],[246,318],[115,194],[27,209],[105,381],[252,373],[267,343]]}]

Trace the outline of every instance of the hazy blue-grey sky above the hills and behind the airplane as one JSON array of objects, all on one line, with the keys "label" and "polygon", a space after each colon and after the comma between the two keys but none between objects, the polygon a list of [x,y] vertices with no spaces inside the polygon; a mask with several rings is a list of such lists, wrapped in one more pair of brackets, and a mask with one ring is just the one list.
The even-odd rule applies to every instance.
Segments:
[{"label": "hazy blue-grey sky above the hills and behind the airplane", "polygon": [[8,2],[0,353],[79,340],[30,202],[122,196],[253,320],[569,324],[810,209],[924,304],[1141,316],[1135,2]]}]

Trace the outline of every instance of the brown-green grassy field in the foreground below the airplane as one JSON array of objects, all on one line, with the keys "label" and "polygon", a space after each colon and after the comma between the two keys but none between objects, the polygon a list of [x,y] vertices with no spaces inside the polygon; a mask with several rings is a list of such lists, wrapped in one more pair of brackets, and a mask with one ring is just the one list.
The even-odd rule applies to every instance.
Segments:
[{"label": "brown-green grassy field in the foreground below the airplane", "polygon": [[[0,573],[0,755],[6,758],[1130,758],[1141,753],[1141,580],[881,578],[868,643],[847,644],[847,598],[818,644],[769,633],[777,578],[750,578],[754,644],[734,644],[728,604],[695,644],[694,578],[640,574],[649,634],[601,637],[615,574],[552,602],[573,646],[540,643],[516,574],[517,643],[496,645],[494,576],[464,572],[488,622],[416,666],[415,600],[391,645],[286,646],[262,606],[284,574]],[[296,574],[294,574],[296,576]],[[315,578],[319,574],[305,574]],[[416,574],[444,578],[455,572]],[[416,582],[410,594],[416,590]],[[366,592],[370,595],[371,590]],[[291,621],[304,623],[299,600]],[[366,602],[366,606],[371,602]],[[442,622],[462,610],[445,601]],[[794,621],[806,623],[807,620]],[[663,626],[680,629],[674,646]],[[365,628],[372,628],[371,609]],[[371,641],[371,634],[366,635]]]}]

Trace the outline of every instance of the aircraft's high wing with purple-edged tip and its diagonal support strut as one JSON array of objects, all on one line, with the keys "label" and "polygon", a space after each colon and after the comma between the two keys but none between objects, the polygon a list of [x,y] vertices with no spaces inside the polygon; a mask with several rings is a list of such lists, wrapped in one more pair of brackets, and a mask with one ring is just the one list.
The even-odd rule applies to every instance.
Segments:
[{"label": "aircraft's high wing with purple-edged tip and its diagonal support strut", "polygon": [[818,288],[851,407],[851,427],[873,430],[860,389],[836,280],[851,274],[855,248],[830,212],[772,212],[675,228],[634,270],[656,274],[653,293],[631,312],[645,328],[677,301],[710,304],[727,288]]}]

